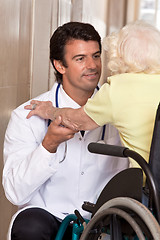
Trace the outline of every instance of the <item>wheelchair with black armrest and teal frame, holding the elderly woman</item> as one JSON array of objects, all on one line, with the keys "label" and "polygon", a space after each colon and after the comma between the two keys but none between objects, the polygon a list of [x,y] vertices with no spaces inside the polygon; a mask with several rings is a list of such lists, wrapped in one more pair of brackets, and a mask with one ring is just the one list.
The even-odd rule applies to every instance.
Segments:
[{"label": "wheelchair with black armrest and teal frame, holding the elderly woman", "polygon": [[[84,219],[75,210],[60,226],[55,240],[62,240],[72,224],[72,240],[160,240],[160,104],[157,109],[149,163],[128,148],[90,143],[92,153],[129,157],[141,168],[128,168],[115,175],[102,190],[95,204],[84,202],[91,213]],[[146,184],[143,186],[143,175]],[[68,239],[69,240],[69,239]]]}]

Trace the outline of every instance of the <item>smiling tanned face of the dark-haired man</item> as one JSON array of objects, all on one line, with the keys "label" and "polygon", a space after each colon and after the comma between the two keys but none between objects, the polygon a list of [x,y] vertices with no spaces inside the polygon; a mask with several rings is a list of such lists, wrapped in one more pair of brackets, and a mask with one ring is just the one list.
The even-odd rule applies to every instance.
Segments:
[{"label": "smiling tanned face of the dark-haired man", "polygon": [[65,46],[63,86],[92,92],[101,75],[101,54],[96,41],[70,40]]}]

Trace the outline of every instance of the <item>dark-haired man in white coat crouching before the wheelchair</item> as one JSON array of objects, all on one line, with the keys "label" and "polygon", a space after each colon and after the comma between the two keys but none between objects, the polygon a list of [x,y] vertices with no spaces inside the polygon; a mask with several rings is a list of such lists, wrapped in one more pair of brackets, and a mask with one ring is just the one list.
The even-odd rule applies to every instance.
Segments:
[{"label": "dark-haired man in white coat crouching before the wheelchair", "polygon": [[[90,24],[70,22],[59,27],[50,40],[50,60],[57,82],[37,98],[56,107],[78,108],[98,91],[101,75],[101,39]],[[119,144],[111,126],[74,132],[19,106],[11,115],[4,142],[3,187],[19,211],[13,216],[8,239],[54,239],[61,220],[84,201],[95,202],[106,183],[128,167],[126,159],[88,152],[92,141]],[[32,109],[38,108],[35,104]],[[68,228],[64,239],[70,239]]]}]

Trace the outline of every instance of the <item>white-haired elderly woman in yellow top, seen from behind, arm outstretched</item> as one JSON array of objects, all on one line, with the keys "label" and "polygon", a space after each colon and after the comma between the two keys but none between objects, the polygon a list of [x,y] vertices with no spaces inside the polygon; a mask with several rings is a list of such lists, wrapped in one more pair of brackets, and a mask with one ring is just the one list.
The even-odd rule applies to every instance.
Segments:
[{"label": "white-haired elderly woman in yellow top, seen from behind, arm outstretched", "polygon": [[[49,102],[33,101],[26,109],[31,109],[32,104],[37,107],[28,118],[61,117],[64,126],[75,130],[111,123],[118,129],[122,144],[148,161],[160,102],[160,32],[136,21],[106,37],[103,46],[110,77],[85,106],[55,109]],[[134,161],[131,164],[136,165]]]}]

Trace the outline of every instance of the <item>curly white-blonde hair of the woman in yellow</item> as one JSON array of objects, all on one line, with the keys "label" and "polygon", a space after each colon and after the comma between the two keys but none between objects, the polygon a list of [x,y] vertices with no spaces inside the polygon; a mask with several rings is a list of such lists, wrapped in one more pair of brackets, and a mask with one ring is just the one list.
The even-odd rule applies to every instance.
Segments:
[{"label": "curly white-blonde hair of the woman in yellow", "polygon": [[160,32],[136,21],[112,33],[103,41],[111,74],[160,73]]}]

